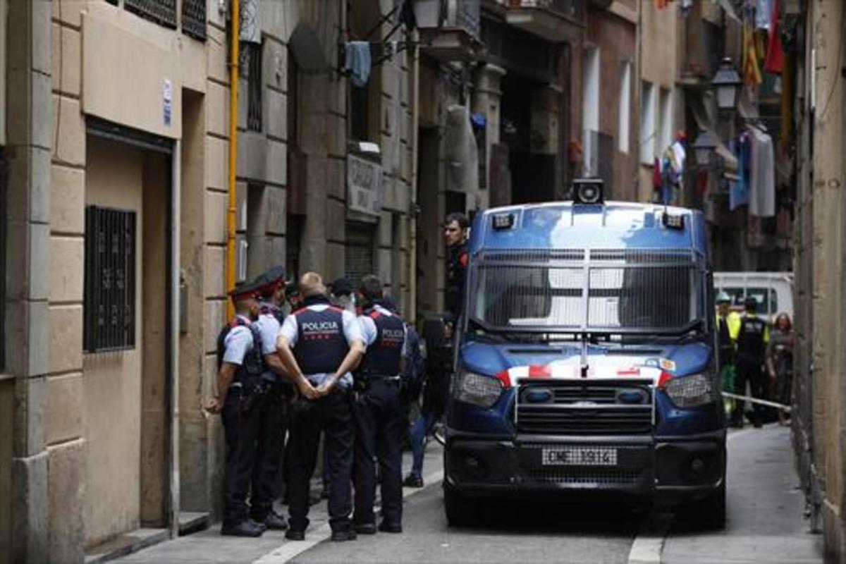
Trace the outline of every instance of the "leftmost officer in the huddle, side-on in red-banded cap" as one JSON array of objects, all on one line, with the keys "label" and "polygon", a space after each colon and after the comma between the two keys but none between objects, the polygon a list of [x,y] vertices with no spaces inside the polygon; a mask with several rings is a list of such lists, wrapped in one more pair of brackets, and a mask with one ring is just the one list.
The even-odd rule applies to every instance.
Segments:
[{"label": "leftmost officer in the huddle, side-on in red-banded cap", "polygon": [[255,409],[261,391],[261,336],[253,321],[259,313],[253,284],[236,287],[230,296],[236,315],[217,338],[217,381],[206,403],[209,413],[222,413],[226,435],[221,534],[257,537],[265,531],[248,515],[246,499],[255,463],[259,418]]}]

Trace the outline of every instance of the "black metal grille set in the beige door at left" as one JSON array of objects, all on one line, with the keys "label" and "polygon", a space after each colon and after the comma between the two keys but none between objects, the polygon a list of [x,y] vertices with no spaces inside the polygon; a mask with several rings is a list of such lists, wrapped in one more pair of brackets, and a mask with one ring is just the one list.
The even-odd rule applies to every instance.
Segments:
[{"label": "black metal grille set in the beige door at left", "polygon": [[135,211],[85,209],[88,353],[135,348]]}]

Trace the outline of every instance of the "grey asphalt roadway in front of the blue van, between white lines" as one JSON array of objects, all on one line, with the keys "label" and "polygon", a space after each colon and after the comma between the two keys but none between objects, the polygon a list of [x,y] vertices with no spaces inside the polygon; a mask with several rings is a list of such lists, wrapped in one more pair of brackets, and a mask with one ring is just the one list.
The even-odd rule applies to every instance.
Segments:
[{"label": "grey asphalt roadway in front of the blue van, between white lines", "polygon": [[440,485],[409,497],[404,533],[321,543],[294,562],[626,562],[645,515],[615,505],[492,504],[477,528],[449,528]]}]

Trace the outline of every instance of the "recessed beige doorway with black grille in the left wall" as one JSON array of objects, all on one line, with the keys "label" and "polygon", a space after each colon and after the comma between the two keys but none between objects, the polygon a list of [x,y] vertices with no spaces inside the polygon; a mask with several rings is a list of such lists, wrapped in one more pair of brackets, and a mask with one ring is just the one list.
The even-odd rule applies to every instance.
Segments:
[{"label": "recessed beige doorway with black grille in the left wall", "polygon": [[86,548],[168,524],[170,158],[86,141]]}]

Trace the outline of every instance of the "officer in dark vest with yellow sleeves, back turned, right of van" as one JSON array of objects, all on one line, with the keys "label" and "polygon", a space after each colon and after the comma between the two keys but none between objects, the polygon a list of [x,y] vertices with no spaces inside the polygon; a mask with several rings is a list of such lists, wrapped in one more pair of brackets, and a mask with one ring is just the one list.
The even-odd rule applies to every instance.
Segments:
[{"label": "officer in dark vest with yellow sleeves, back turned, right of van", "polygon": [[[751,395],[757,399],[766,397],[766,378],[763,364],[766,342],[769,340],[769,329],[766,321],[755,314],[758,307],[755,298],[746,298],[744,315],[740,320],[737,339],[737,364],[735,365],[734,393],[743,396],[746,393],[746,382],[749,382]],[[744,402],[738,401],[734,407],[732,424],[743,427]],[[763,409],[758,403],[752,406],[752,423],[760,428]]]}]

